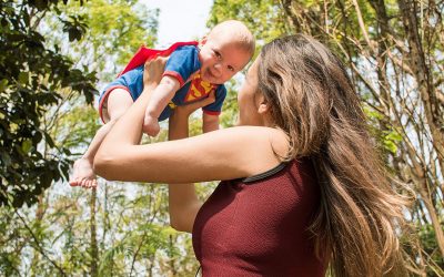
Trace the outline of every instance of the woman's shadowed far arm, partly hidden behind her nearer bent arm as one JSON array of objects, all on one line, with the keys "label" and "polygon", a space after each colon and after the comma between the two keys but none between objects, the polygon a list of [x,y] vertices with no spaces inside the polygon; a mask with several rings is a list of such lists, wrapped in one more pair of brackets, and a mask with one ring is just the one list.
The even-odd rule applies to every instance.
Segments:
[{"label": "woman's shadowed far arm, partly hidden behind her nearer bent arm", "polygon": [[[180,140],[189,136],[189,116],[199,107],[214,102],[214,93],[208,99],[185,106],[178,106],[170,117],[169,138]],[[176,230],[193,230],[194,219],[202,202],[195,194],[194,184],[170,184],[169,185],[169,213],[170,224]]]}]

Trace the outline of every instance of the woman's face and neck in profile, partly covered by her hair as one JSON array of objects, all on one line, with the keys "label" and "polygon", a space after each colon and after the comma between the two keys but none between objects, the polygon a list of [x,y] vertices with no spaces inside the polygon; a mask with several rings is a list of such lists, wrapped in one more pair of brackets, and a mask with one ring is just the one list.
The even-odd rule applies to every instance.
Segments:
[{"label": "woman's face and neck in profile, partly covered by her hair", "polygon": [[258,92],[258,57],[246,72],[245,81],[238,93],[239,122],[238,125],[264,125],[262,115],[258,112],[261,95]]}]

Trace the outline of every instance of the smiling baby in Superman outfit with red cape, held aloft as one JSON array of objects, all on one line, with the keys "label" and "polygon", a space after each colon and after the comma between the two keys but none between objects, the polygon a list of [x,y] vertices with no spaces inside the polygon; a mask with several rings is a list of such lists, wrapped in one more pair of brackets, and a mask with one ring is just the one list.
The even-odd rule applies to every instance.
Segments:
[{"label": "smiling baby in Superman outfit with red cape, held aloft", "polygon": [[215,25],[200,42],[179,42],[164,51],[141,49],[125,70],[109,84],[99,100],[99,129],[84,155],[75,161],[71,186],[97,186],[92,161],[115,121],[143,91],[143,63],[154,55],[170,55],[163,78],[147,106],[143,132],[155,136],[159,121],[172,114],[176,105],[203,100],[213,91],[214,103],[202,107],[203,132],[219,129],[219,114],[226,95],[224,82],[242,70],[254,53],[254,38],[240,21]]}]

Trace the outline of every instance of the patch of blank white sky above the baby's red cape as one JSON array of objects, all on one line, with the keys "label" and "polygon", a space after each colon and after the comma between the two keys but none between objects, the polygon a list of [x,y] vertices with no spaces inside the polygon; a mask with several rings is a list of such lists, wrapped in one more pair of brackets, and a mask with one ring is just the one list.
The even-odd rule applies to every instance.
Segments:
[{"label": "patch of blank white sky above the baby's red cape", "polygon": [[157,48],[190,41],[208,32],[205,25],[213,0],[141,0],[149,9],[160,9]]}]

